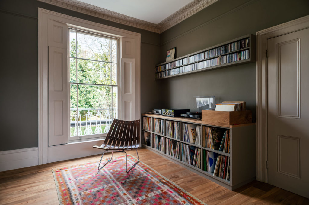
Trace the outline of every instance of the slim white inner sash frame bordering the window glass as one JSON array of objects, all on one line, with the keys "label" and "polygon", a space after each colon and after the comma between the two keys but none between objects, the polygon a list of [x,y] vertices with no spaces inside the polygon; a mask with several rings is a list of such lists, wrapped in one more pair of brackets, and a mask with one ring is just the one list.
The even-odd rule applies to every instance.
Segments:
[{"label": "slim white inner sash frame bordering the window glass", "polygon": [[[115,38],[115,37],[112,37],[108,34],[102,34],[102,33],[99,33],[99,32],[95,32],[95,31],[90,31],[90,30],[87,30],[87,29],[81,29],[81,28],[77,28],[76,26],[69,26],[68,27],[68,34],[70,35],[70,29],[72,30],[75,30],[76,32],[80,32],[80,33],[84,33],[84,34],[93,34],[93,35],[96,35],[96,36],[100,36],[100,37],[106,37],[106,38],[109,38],[109,39],[112,39],[112,40],[116,40],[117,41],[117,85],[108,85],[108,86],[111,86],[111,87],[118,87],[118,98],[117,98],[117,103],[118,103],[118,118],[119,116],[121,115],[121,107],[119,106],[120,105],[120,101],[119,101],[119,98],[120,98],[120,93],[119,91],[121,90],[120,88],[120,82],[119,82],[119,79],[120,79],[120,57],[119,57],[119,50],[120,50],[120,39],[119,38]],[[70,39],[68,37],[68,39]],[[68,70],[69,70],[69,73],[70,73],[70,41],[68,41]],[[76,56],[77,58],[77,56]],[[91,60],[91,59],[89,59]],[[77,64],[76,64],[77,66]],[[70,77],[70,76],[69,76]],[[70,78],[69,78],[70,79]],[[69,129],[68,129],[68,142],[81,142],[81,141],[87,141],[87,140],[95,140],[95,139],[105,139],[107,133],[103,133],[103,134],[98,134],[98,135],[81,135],[81,136],[70,136],[70,80],[68,82],[68,119],[69,119]],[[76,84],[79,84],[76,82]]]}]

